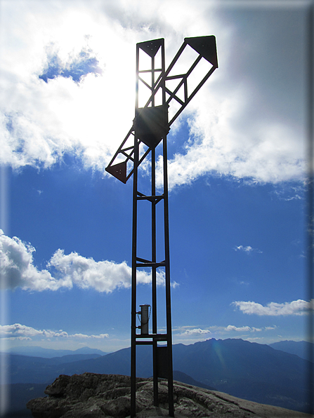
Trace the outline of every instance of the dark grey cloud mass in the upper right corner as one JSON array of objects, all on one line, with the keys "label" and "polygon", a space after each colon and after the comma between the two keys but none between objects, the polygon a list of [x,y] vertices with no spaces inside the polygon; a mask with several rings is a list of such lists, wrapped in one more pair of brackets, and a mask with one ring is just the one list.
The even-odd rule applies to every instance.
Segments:
[{"label": "dark grey cloud mass in the upper right corner", "polygon": [[248,2],[247,7],[221,8],[217,14],[233,28],[225,62],[230,81],[251,89],[255,105],[247,119],[275,116],[299,126],[306,104],[306,8],[261,9]]}]

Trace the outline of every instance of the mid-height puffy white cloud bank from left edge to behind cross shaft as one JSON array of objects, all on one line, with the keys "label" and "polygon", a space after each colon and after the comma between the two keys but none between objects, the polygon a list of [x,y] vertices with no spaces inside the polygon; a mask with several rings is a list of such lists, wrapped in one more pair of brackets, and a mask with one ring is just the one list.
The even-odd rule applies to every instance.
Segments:
[{"label": "mid-height puffy white cloud bank from left edge to behind cross shaft", "polygon": [[[82,257],[77,252],[65,255],[57,250],[47,269],[34,266],[34,247],[19,238],[10,238],[0,230],[0,277],[1,288],[22,288],[23,290],[94,289],[110,293],[119,288],[131,287],[131,267],[126,262],[96,262],[93,258]],[[137,272],[139,284],[151,283],[151,274]],[[157,285],[164,285],[164,271],[157,271]],[[175,288],[178,283],[172,283]]]}]

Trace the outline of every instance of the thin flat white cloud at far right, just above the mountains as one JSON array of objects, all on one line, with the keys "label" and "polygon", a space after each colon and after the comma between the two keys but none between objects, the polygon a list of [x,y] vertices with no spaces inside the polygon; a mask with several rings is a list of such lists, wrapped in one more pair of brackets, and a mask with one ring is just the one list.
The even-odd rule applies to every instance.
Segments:
[{"label": "thin flat white cloud at far right, just above the mountains", "polygon": [[311,302],[298,299],[292,302],[278,304],[270,302],[263,306],[256,302],[233,302],[243,312],[243,314],[255,314],[259,316],[286,316],[286,315],[305,315],[314,310],[314,299]]}]

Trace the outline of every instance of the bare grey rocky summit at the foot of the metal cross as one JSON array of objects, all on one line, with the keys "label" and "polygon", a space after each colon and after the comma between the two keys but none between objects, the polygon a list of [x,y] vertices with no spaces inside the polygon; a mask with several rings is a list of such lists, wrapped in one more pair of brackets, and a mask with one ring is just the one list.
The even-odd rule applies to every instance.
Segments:
[{"label": "bare grey rocky summit at the foot of the metal cross", "polygon": [[[130,377],[122,375],[60,375],[47,386],[45,398],[32,399],[27,408],[34,418],[124,418],[130,416]],[[174,382],[176,418],[237,417],[294,418],[307,414],[262,405],[181,382]],[[168,387],[159,382],[159,407],[153,406],[152,378],[136,382],[136,417],[168,417]]]}]

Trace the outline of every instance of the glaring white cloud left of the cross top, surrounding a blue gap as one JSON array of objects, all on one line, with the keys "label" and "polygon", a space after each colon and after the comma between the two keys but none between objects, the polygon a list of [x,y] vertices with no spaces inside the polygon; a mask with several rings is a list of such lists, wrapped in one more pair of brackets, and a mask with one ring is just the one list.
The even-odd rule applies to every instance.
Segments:
[{"label": "glaring white cloud left of the cross top, surrounding a blue gap", "polygon": [[[188,16],[172,21],[168,3],[162,11],[140,1],[1,4],[0,162],[49,167],[70,152],[104,171],[133,121],[136,43],[168,34],[172,57],[189,35],[177,33]],[[45,83],[47,50],[67,66],[91,50],[103,74]]]}]

